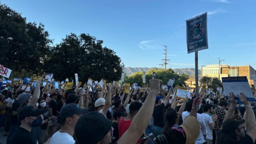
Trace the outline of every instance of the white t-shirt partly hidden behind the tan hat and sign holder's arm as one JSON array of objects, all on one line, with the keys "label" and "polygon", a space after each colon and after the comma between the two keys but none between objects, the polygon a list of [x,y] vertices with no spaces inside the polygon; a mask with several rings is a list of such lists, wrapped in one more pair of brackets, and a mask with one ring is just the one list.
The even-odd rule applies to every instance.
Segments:
[{"label": "white t-shirt partly hidden behind the tan hat and sign holder's arm", "polygon": [[[185,118],[189,115],[190,115],[190,112],[188,112],[188,111],[182,112],[182,120],[184,121]],[[205,142],[204,135],[207,134],[206,124],[205,124],[204,117],[202,116],[202,114],[197,113],[196,117],[197,117],[197,120],[198,120],[199,126],[200,126],[200,134],[199,134],[198,138],[196,139],[195,144],[202,144]]]}]

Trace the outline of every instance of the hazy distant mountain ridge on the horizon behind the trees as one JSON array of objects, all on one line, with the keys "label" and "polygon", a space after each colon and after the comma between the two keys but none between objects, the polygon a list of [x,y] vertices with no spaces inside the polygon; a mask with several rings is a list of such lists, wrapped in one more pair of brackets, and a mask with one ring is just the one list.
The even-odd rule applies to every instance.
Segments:
[{"label": "hazy distant mountain ridge on the horizon behind the trees", "polygon": [[[126,73],[126,75],[130,75],[133,74],[134,72],[147,72],[150,68],[131,68],[131,67],[124,67],[124,73]],[[178,72],[179,74],[184,73],[184,74],[188,74],[188,76],[194,76],[196,69],[194,68],[176,68],[174,69],[174,72]],[[198,75],[201,75],[201,70],[198,70]]]}]

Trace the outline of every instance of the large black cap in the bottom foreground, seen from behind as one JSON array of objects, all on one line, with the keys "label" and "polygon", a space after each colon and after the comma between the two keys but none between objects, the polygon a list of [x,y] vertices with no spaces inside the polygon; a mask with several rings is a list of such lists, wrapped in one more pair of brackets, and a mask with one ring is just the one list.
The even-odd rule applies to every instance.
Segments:
[{"label": "large black cap in the bottom foreground, seen from behind", "polygon": [[76,122],[77,144],[97,144],[112,128],[112,121],[99,112],[88,112]]}]

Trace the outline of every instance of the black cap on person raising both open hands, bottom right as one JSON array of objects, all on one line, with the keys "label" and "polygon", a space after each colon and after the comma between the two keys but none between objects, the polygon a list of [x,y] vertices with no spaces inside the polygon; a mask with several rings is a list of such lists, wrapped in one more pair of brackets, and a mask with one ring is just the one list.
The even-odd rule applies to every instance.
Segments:
[{"label": "black cap on person raising both open hands, bottom right", "polygon": [[222,124],[222,131],[225,132],[226,134],[234,132],[237,129],[237,127],[243,124],[244,122],[245,122],[244,119],[236,120],[232,118],[232,119],[226,120]]}]

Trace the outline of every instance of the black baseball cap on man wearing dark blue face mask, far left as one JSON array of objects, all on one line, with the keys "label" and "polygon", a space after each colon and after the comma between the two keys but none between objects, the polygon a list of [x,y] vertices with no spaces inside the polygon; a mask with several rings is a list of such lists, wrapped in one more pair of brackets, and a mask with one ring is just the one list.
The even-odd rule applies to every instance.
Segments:
[{"label": "black baseball cap on man wearing dark blue face mask, far left", "polygon": [[24,106],[19,113],[19,120],[24,120],[30,116],[40,116],[45,112],[45,109],[35,109],[33,106]]}]

